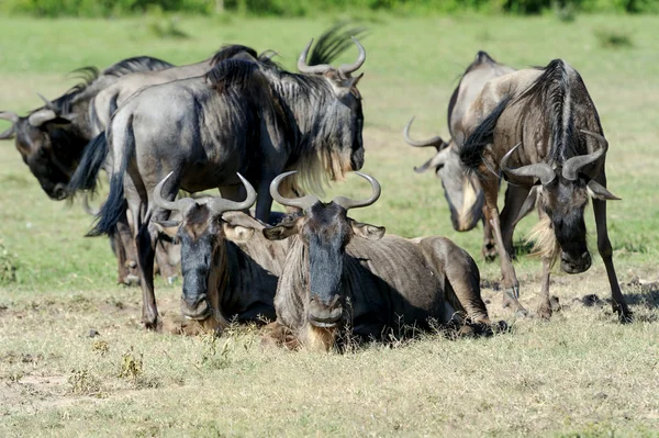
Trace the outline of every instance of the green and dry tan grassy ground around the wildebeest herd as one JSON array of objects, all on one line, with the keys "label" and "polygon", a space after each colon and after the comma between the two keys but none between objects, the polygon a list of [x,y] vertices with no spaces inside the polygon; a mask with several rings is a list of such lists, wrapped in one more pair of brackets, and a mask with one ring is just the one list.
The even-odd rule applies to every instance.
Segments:
[{"label": "green and dry tan grassy ground around the wildebeest herd", "polygon": [[[36,91],[54,98],[72,85],[67,71],[134,55],[186,64],[239,42],[273,48],[293,68],[309,38],[331,23],[181,19],[178,26],[189,37],[163,38],[148,19],[0,18],[0,108],[24,113],[40,104]],[[659,19],[376,16],[367,24],[359,86],[365,171],[382,182],[383,194],[353,215],[390,233],[446,235],[465,246],[481,269],[491,314],[506,319],[510,333],[457,341],[431,334],[317,355],[263,350],[255,328],[235,327],[217,339],[145,332],[138,289],[114,284],[108,242],[82,237],[89,216],[78,205],[49,201],[12,142],[4,142],[1,436],[659,434],[659,288],[634,281],[658,278]],[[603,44],[611,33],[630,45],[619,38]],[[624,199],[610,203],[608,218],[633,324],[617,324],[608,305],[578,301],[610,294],[599,256],[584,274],[554,277],[551,291],[563,308],[551,322],[515,319],[491,289],[499,267],[479,256],[481,229],[454,232],[438,180],[412,171],[431,150],[404,145],[402,127],[415,114],[416,137],[447,134],[448,98],[478,49],[517,68],[561,57],[583,76],[611,143],[608,186]],[[332,193],[367,190],[350,177]],[[596,254],[590,207],[587,214]],[[526,218],[517,238],[534,222]],[[516,267],[522,303],[535,308],[540,263],[523,256]],[[158,280],[156,288],[161,312],[175,313],[180,282]],[[100,336],[90,337],[90,330]]]}]

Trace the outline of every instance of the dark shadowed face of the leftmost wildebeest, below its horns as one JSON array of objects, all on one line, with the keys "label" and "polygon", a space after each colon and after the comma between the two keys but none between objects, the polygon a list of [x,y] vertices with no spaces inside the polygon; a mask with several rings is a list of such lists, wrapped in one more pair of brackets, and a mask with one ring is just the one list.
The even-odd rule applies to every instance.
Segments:
[{"label": "dark shadowed face of the leftmost wildebeest, below its horns", "polygon": [[85,139],[75,138],[64,124],[35,127],[21,117],[16,123],[16,148],[42,189],[54,200],[66,198],[66,184],[75,171]]}]

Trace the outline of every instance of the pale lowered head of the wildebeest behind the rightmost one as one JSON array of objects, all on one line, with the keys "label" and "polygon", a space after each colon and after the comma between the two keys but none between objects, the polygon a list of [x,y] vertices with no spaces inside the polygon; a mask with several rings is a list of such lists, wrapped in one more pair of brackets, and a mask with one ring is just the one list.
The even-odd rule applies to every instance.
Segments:
[{"label": "pale lowered head of the wildebeest behind the rightmost one", "polygon": [[434,146],[437,149],[437,154],[433,158],[424,162],[421,167],[415,167],[414,171],[423,173],[431,168],[435,169],[435,175],[442,179],[442,187],[444,188],[446,201],[448,201],[454,228],[458,232],[470,231],[481,218],[484,202],[483,191],[478,177],[465,172],[460,164],[457,146],[453,139],[449,143],[446,143],[438,136],[426,141],[412,139],[410,137],[412,122],[414,122],[414,117],[412,117],[403,131],[405,142],[410,146]]}]

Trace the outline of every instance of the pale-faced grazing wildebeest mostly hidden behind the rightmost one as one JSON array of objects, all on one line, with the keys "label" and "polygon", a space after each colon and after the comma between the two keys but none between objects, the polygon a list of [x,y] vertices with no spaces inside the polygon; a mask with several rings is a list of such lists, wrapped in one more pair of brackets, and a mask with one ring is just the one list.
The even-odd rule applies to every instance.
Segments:
[{"label": "pale-faced grazing wildebeest mostly hidden behind the rightmost one", "polygon": [[[450,218],[453,226],[458,232],[468,232],[483,217],[483,191],[476,176],[466,172],[460,164],[459,145],[465,142],[465,126],[462,117],[467,109],[476,100],[483,89],[485,82],[490,79],[515,71],[514,68],[496,63],[485,52],[479,52],[476,59],[460,79],[460,82],[453,92],[448,103],[448,130],[450,141],[447,143],[442,137],[435,136],[425,141],[415,141],[410,138],[410,127],[414,117],[407,123],[403,131],[405,142],[415,147],[434,146],[437,153],[421,167],[414,168],[417,173],[425,172],[433,168],[435,173],[442,179],[444,194],[450,209]],[[513,195],[514,188],[506,191],[506,201]],[[505,223],[509,217],[507,211],[502,213],[502,220]],[[511,217],[511,220],[514,217]],[[487,260],[491,260],[496,255],[494,239],[492,237],[492,227],[483,221],[483,248],[482,254]],[[510,242],[509,242],[510,240]],[[509,239],[504,238],[509,250],[512,250],[512,235]]]}]

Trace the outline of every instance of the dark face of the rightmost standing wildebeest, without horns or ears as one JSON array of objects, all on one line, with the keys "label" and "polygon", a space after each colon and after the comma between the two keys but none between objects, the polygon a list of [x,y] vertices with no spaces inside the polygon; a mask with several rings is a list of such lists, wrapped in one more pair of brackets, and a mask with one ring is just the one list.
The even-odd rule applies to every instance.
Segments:
[{"label": "dark face of the rightmost standing wildebeest, without horns or ears", "polygon": [[544,206],[561,248],[561,269],[568,273],[584,272],[591,266],[583,220],[589,199],[585,182],[570,181],[559,175],[550,186],[544,190]]}]

